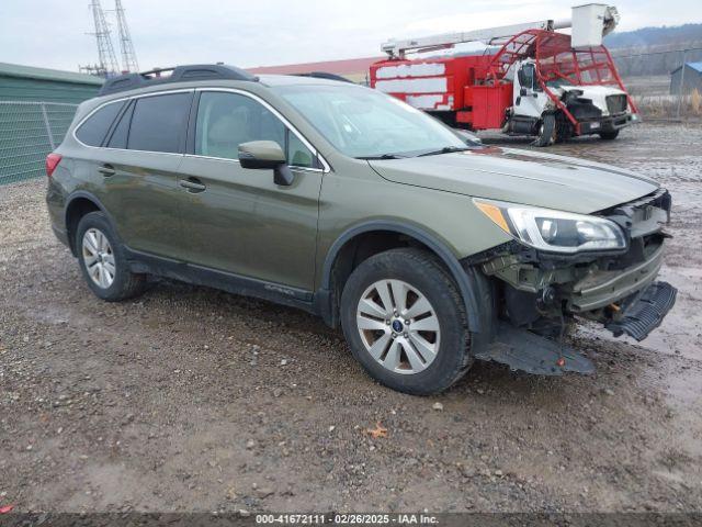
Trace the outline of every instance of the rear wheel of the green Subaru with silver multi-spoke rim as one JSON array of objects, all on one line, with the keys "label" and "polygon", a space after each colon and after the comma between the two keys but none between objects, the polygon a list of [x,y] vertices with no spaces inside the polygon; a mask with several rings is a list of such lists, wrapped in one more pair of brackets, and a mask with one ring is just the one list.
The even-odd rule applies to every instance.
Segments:
[{"label": "rear wheel of the green Subaru with silver multi-spoke rim", "polygon": [[83,278],[100,299],[117,302],[144,291],[146,277],[129,271],[124,248],[102,212],[91,212],[80,218],[76,250]]}]

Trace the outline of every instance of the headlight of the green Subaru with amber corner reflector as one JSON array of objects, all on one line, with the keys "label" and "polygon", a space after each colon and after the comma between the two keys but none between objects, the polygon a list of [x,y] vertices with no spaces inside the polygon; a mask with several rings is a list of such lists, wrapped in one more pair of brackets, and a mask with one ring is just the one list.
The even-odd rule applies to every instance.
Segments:
[{"label": "headlight of the green Subaru with amber corner reflector", "polygon": [[626,248],[622,229],[603,217],[497,201],[474,202],[500,228],[536,249],[579,253]]}]

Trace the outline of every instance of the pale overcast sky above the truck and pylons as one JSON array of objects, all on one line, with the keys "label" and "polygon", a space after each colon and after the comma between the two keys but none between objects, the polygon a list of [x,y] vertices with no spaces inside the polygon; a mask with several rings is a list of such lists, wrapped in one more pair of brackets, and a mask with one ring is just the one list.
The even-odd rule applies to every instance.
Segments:
[{"label": "pale overcast sky above the truck and pylons", "polygon": [[[139,68],[240,67],[380,56],[390,37],[563,19],[587,0],[122,0]],[[610,0],[620,31],[702,22],[700,0]],[[89,0],[0,0],[0,63],[97,61]],[[113,0],[102,0],[113,9]],[[107,12],[118,57],[116,23]]]}]

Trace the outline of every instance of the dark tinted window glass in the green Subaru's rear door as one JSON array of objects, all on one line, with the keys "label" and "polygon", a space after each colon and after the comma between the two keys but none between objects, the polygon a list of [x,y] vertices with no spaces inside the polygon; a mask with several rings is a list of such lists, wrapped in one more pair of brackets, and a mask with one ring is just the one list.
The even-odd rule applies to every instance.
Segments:
[{"label": "dark tinted window glass in the green Subaru's rear door", "polygon": [[177,153],[185,131],[191,97],[192,93],[169,93],[137,99],[127,148]]}]

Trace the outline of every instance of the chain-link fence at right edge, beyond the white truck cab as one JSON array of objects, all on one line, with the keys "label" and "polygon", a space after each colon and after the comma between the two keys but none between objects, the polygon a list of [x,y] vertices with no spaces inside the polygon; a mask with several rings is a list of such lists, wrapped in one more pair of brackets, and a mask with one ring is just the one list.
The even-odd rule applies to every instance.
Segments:
[{"label": "chain-link fence at right edge, beyond the white truck cab", "polygon": [[702,117],[702,47],[616,49],[612,57],[645,119]]}]

